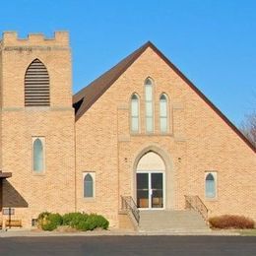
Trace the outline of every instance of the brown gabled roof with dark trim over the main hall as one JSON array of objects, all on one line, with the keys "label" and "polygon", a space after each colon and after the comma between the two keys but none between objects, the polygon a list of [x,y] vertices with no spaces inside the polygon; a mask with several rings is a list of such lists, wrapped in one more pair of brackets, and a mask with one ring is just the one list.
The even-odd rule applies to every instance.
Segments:
[{"label": "brown gabled roof with dark trim over the main hall", "polygon": [[96,102],[97,98],[102,96],[104,92],[114,84],[114,82],[141,56],[148,47],[152,48],[160,58],[224,120],[224,122],[247,144],[247,146],[256,153],[256,148],[236,128],[236,126],[229,121],[224,113],[209,98],[207,98],[207,96],[199,91],[199,89],[197,89],[197,87],[188,78],[186,78],[186,76],[174,64],[172,64],[151,41],[142,45],[139,49],[135,50],[114,67],[98,77],[89,86],[85,87],[73,96],[76,121],[79,120],[79,118]]}]

